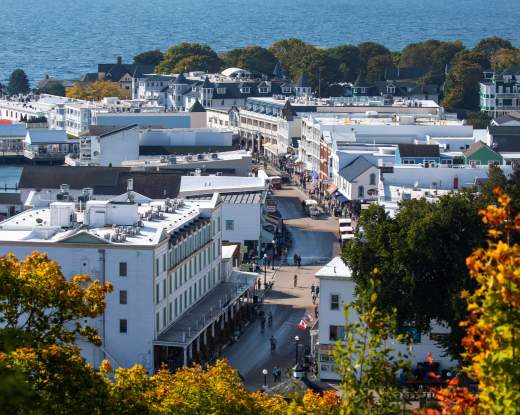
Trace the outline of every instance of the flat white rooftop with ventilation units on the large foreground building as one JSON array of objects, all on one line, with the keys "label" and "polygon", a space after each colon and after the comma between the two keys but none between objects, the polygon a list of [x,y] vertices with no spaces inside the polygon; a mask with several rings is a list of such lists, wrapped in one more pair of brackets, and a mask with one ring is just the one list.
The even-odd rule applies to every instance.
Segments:
[{"label": "flat white rooftop with ventilation units on the large foreground building", "polygon": [[[204,201],[150,200],[133,191],[111,200],[90,200],[83,207],[54,202],[1,222],[0,241],[154,246],[166,234],[199,219],[201,209],[212,208],[217,202],[217,194]],[[103,210],[106,219],[99,222],[93,215]]]}]

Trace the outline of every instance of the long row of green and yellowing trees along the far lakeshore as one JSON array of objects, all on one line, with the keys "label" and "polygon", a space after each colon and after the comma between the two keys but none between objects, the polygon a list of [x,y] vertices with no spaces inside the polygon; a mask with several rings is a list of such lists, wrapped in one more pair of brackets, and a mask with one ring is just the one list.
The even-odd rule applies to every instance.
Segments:
[{"label": "long row of green and yellowing trees along the far lakeshore", "polygon": [[[477,111],[483,71],[519,65],[520,48],[498,37],[482,39],[473,48],[466,48],[461,41],[427,40],[411,43],[401,51],[374,42],[319,48],[291,38],[268,48],[247,46],[222,53],[204,44],[180,43],[164,53],[152,50],[134,58],[135,63],[155,65],[161,73],[217,72],[236,66],[270,74],[278,61],[288,79],[296,81],[305,73],[322,96],[337,95],[341,83],[354,82],[360,74],[369,81],[379,81],[398,67],[416,68],[423,73],[419,82],[441,86],[442,104],[448,110]],[[474,118],[475,123],[483,123],[481,117]]]}]

